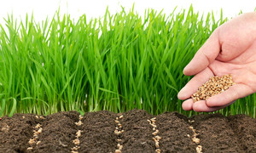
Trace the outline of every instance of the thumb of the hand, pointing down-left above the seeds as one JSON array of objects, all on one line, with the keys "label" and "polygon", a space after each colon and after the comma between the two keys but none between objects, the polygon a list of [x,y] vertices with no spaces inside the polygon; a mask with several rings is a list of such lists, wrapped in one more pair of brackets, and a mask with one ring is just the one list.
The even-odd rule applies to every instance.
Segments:
[{"label": "thumb of the hand, pointing down-left above the seeds", "polygon": [[206,69],[207,66],[216,59],[219,51],[220,44],[218,41],[218,30],[216,30],[212,33],[207,42],[197,51],[194,58],[189,62],[189,65],[184,68],[184,75],[192,76]]}]

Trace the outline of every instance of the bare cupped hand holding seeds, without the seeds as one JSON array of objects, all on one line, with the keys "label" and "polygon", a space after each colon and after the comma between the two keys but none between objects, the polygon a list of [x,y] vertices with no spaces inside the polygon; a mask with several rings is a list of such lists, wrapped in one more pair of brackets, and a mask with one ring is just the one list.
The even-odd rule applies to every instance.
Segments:
[{"label": "bare cupped hand holding seeds, without the seeds", "polygon": [[[212,32],[184,68],[193,77],[177,94],[185,111],[218,111],[256,92],[256,13],[241,14]],[[210,77],[231,74],[235,85],[196,103],[190,99]]]}]

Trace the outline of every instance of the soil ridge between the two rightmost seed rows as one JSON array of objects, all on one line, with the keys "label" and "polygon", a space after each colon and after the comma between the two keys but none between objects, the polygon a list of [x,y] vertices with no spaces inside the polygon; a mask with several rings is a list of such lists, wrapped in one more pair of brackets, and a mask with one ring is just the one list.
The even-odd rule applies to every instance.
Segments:
[{"label": "soil ridge between the two rightmost seed rows", "polygon": [[156,125],[162,152],[195,152],[197,145],[191,139],[193,132],[186,116],[177,112],[164,113],[156,116]]}]

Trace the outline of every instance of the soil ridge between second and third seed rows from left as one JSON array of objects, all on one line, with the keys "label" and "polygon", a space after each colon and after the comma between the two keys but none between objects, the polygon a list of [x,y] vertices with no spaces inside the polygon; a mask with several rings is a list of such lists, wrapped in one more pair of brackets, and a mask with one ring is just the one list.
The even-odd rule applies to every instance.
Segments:
[{"label": "soil ridge between second and third seed rows from left", "polygon": [[88,112],[82,119],[83,134],[79,138],[79,152],[114,152],[117,135],[114,134],[116,114],[109,111]]}]

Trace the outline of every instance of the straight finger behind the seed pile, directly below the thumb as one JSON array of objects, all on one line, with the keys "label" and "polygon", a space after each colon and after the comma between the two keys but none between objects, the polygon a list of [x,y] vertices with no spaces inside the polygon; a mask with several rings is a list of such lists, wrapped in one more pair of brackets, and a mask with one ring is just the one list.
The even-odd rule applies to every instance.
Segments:
[{"label": "straight finger behind the seed pile, directly below the thumb", "polygon": [[189,97],[194,94],[197,89],[205,82],[213,77],[212,71],[207,67],[204,71],[201,71],[195,77],[193,77],[177,94],[178,99],[189,99]]}]

